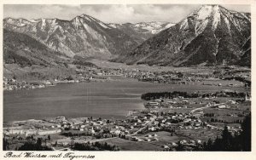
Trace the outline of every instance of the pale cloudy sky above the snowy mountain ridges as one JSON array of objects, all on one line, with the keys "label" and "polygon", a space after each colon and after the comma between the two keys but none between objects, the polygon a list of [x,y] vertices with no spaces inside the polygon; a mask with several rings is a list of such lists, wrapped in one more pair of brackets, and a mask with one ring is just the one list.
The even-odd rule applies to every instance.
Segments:
[{"label": "pale cloudy sky above the snowy mountain ridges", "polygon": [[[72,20],[88,14],[105,23],[167,21],[177,23],[200,5],[190,4],[5,4],[3,18],[58,18]],[[249,5],[223,5],[226,9],[250,12]]]}]

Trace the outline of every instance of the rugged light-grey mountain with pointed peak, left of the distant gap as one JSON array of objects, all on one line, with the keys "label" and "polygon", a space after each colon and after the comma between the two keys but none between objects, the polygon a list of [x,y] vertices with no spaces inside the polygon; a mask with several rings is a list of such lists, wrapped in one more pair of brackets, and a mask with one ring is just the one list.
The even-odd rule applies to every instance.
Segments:
[{"label": "rugged light-grey mountain with pointed peak, left of the distant gap", "polygon": [[82,14],[73,20],[59,19],[11,19],[3,20],[9,31],[24,33],[44,43],[50,49],[73,57],[109,58],[125,54],[137,47],[137,42],[119,29],[108,26],[100,20]]}]

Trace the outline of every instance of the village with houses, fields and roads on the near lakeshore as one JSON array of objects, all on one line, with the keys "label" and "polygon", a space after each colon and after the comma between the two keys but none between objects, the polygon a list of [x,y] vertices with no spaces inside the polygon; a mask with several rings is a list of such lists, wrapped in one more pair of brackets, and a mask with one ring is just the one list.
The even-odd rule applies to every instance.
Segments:
[{"label": "village with houses, fields and roads on the near lakeshore", "polygon": [[221,134],[224,125],[232,134],[241,132],[241,119],[250,111],[250,98],[246,94],[242,100],[224,100],[216,103],[216,99],[206,98],[160,98],[146,101],[143,111],[129,111],[125,119],[31,119],[6,124],[3,134],[10,150],[18,149],[31,137],[33,140],[43,138],[44,145],[53,150],[73,150],[75,143],[119,146],[120,142],[123,143],[120,150],[125,150],[125,144],[130,143],[139,144],[143,150],[150,147],[157,151],[176,151],[177,146],[193,150],[207,141],[209,134],[213,137]]}]

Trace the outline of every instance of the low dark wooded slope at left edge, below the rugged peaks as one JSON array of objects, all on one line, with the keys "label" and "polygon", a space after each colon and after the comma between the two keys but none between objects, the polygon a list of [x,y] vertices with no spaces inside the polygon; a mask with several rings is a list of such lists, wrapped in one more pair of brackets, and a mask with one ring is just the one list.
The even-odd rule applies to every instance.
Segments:
[{"label": "low dark wooded slope at left edge, below the rugged peaks", "polygon": [[3,62],[19,66],[64,66],[65,54],[48,49],[32,37],[3,30]]}]

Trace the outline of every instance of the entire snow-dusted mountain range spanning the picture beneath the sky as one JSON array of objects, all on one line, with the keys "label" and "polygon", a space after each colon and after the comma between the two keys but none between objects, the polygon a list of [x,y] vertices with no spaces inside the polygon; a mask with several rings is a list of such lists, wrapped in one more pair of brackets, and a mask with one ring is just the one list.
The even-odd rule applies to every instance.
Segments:
[{"label": "entire snow-dusted mountain range spanning the picture beneath the sky", "polygon": [[19,71],[35,65],[65,69],[78,57],[149,66],[250,66],[251,14],[203,5],[177,24],[104,23],[87,14],[3,20],[4,71],[11,72],[9,64]]}]

